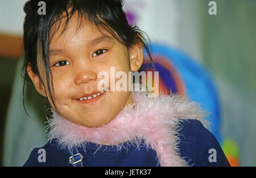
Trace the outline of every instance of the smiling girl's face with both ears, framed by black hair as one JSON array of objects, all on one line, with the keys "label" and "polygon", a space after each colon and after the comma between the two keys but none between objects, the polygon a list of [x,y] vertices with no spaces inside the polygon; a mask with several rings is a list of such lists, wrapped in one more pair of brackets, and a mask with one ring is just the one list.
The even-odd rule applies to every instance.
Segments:
[{"label": "smiling girl's face with both ears, framed by black hair", "polygon": [[[110,67],[115,67],[115,73],[124,71],[127,77],[129,71],[137,71],[143,62],[142,45],[127,49],[110,33],[102,35],[94,24],[86,23],[79,31],[76,27],[77,21],[71,20],[62,35],[57,32],[53,36],[49,46],[56,108],[30,65],[27,71],[39,93],[48,97],[61,116],[82,126],[100,127],[112,121],[123,107],[132,104],[128,88],[126,91],[110,91]],[[42,67],[39,71],[44,76]],[[78,100],[101,92],[97,87],[102,80],[97,76],[101,71],[108,73],[109,87],[106,89],[109,91],[94,99]],[[117,81],[115,79],[115,83]],[[128,82],[127,79],[127,86]]]}]

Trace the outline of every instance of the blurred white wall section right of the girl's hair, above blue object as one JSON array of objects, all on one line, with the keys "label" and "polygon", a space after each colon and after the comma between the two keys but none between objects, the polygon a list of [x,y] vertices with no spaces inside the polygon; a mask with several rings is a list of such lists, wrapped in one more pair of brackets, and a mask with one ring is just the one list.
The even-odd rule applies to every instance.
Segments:
[{"label": "blurred white wall section right of the girl's hair, above blue object", "polygon": [[[138,15],[137,25],[151,41],[184,50],[203,61],[200,2],[191,0],[128,0],[126,9]],[[208,7],[205,10],[208,11]]]}]

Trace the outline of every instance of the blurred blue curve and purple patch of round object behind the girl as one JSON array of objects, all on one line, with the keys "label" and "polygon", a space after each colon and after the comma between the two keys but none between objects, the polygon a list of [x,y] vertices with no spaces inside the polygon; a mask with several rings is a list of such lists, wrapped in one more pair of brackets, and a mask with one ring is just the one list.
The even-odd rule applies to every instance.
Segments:
[{"label": "blurred blue curve and purple patch of round object behind the girl", "polygon": [[[152,58],[162,56],[170,60],[170,65],[174,66],[175,70],[180,74],[185,84],[185,91],[189,99],[201,104],[205,110],[210,112],[206,118],[210,122],[210,129],[218,142],[222,142],[220,134],[220,104],[214,80],[209,71],[200,63],[193,60],[180,50],[170,48],[166,45],[152,44],[151,45]],[[170,81],[166,80],[167,73],[164,66],[155,63],[156,70],[159,71],[159,78],[162,79],[166,88],[176,92],[176,85],[174,79],[169,76]],[[144,66],[145,67],[145,66]],[[161,76],[162,75],[162,76]]]}]

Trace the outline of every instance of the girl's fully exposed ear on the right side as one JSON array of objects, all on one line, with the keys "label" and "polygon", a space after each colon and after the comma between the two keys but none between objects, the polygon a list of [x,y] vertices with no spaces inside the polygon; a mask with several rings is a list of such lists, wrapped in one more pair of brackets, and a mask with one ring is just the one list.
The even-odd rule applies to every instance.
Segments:
[{"label": "girl's fully exposed ear on the right side", "polygon": [[137,43],[129,49],[131,71],[138,71],[143,63],[143,45]]}]

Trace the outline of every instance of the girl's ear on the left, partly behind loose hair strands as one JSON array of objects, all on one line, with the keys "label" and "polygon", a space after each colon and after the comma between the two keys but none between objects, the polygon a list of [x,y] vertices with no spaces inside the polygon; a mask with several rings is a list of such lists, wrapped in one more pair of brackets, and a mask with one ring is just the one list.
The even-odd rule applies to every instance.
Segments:
[{"label": "girl's ear on the left, partly behind loose hair strands", "polygon": [[44,97],[47,97],[46,90],[45,90],[44,86],[42,85],[42,82],[40,81],[39,76],[32,71],[30,63],[27,66],[27,73],[28,73],[28,76],[30,77],[30,79],[32,80],[36,90],[39,92],[39,94]]}]

